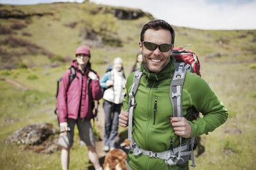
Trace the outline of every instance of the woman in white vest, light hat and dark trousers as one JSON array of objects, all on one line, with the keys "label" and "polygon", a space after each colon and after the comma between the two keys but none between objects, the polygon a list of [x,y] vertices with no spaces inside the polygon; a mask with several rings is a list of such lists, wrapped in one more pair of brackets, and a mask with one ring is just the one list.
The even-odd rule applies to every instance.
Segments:
[{"label": "woman in white vest, light hat and dark trousers", "polygon": [[[125,74],[123,72],[122,59],[115,58],[113,69],[100,79],[100,86],[107,88],[104,92],[103,108],[105,111],[105,133],[104,133],[104,151],[109,151],[116,147],[116,138],[118,136],[118,115],[122,107],[122,101],[125,97]],[[113,115],[112,115],[113,114]]]}]

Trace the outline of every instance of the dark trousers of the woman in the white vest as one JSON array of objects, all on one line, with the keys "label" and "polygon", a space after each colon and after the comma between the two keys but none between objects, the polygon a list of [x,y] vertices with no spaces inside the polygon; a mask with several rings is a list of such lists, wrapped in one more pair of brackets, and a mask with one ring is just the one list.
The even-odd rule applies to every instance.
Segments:
[{"label": "dark trousers of the woman in the white vest", "polygon": [[120,114],[122,104],[114,104],[110,101],[104,101],[105,111],[105,146],[116,147],[116,138],[118,136],[118,115]]}]

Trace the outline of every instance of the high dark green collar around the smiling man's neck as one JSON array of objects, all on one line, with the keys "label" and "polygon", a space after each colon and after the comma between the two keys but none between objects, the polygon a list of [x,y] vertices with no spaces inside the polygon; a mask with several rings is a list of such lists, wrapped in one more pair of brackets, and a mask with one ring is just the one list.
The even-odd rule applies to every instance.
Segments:
[{"label": "high dark green collar around the smiling man's neck", "polygon": [[173,71],[175,70],[174,62],[175,58],[173,56],[170,56],[169,64],[162,71],[157,73],[146,71],[143,63],[140,66],[140,70],[149,80],[164,80],[168,77],[173,76]]}]

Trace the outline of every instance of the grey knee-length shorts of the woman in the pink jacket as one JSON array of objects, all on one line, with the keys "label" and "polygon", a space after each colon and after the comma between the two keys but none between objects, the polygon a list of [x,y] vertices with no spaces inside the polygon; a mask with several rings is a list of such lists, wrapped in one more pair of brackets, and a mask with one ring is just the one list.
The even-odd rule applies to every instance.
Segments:
[{"label": "grey knee-length shorts of the woman in the pink jacket", "polygon": [[62,147],[70,148],[73,145],[74,139],[74,127],[75,124],[78,127],[78,132],[80,136],[80,144],[81,145],[95,145],[94,132],[92,130],[92,124],[89,120],[82,121],[81,118],[76,120],[67,119],[67,125],[70,127],[69,132],[63,132],[60,134],[60,138],[58,138],[58,143]]}]

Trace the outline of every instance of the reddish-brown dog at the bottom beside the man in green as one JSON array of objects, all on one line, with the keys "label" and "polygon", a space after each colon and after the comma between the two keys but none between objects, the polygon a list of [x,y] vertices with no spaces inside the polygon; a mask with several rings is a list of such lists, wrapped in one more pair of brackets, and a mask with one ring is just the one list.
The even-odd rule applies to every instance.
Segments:
[{"label": "reddish-brown dog at the bottom beside the man in green", "polygon": [[[121,147],[129,149],[131,141],[125,139],[123,143],[120,144]],[[104,170],[126,170],[125,160],[127,154],[122,149],[114,149],[107,153],[105,156],[105,161],[103,164]]]}]

